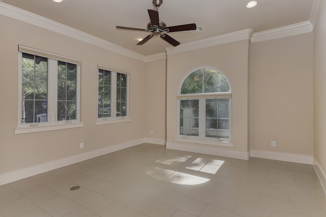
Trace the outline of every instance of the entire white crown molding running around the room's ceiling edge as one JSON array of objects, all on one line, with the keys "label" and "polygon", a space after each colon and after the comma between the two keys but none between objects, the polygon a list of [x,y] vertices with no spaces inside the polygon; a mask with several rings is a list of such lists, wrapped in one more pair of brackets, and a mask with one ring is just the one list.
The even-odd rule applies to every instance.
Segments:
[{"label": "entire white crown molding running around the room's ceiling edge", "polygon": [[300,23],[295,23],[292,25],[287,25],[279,28],[269,29],[266,31],[253,33],[253,29],[243,29],[237,32],[228,33],[220,36],[214,36],[207,39],[202,39],[194,42],[188,42],[181,44],[177,47],[167,47],[166,53],[157,53],[153,55],[142,55],[140,53],[131,51],[124,47],[118,46],[111,42],[107,42],[103,39],[97,38],[90,34],[84,33],[80,30],[71,28],[67,25],[61,24],[59,22],[47,19],[45,17],[33,14],[31,12],[16,8],[14,6],[0,2],[0,15],[4,15],[25,23],[29,23],[55,33],[59,33],[70,38],[92,44],[103,49],[143,61],[148,63],[150,61],[165,59],[166,55],[185,52],[189,50],[195,50],[205,47],[211,47],[220,44],[226,44],[230,42],[236,42],[240,40],[250,40],[251,43],[273,40],[278,38],[284,38],[288,36],[300,35],[304,33],[313,32],[313,26],[318,18],[318,8],[320,6],[321,0],[314,0],[313,7],[310,14],[310,21],[304,21]]}]

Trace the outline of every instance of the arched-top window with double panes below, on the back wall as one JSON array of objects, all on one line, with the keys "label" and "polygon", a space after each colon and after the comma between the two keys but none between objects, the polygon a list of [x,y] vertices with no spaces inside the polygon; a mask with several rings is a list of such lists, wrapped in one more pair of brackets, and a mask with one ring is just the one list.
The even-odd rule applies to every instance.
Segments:
[{"label": "arched-top window with double panes below, on the back wall", "polygon": [[178,137],[207,144],[231,141],[231,88],[221,71],[206,68],[188,75],[179,88],[178,108]]}]

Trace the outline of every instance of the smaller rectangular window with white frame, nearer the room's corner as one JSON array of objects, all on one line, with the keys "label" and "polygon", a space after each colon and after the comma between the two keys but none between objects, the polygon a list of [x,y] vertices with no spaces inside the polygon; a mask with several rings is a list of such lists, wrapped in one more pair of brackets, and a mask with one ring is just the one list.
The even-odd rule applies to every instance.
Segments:
[{"label": "smaller rectangular window with white frame, nearer the room's corner", "polygon": [[98,65],[96,124],[130,121],[129,72]]}]

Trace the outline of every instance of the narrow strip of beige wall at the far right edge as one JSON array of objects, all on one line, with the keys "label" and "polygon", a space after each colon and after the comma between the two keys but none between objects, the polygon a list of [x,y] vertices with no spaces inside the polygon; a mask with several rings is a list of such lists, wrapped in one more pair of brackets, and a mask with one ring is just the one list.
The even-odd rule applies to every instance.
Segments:
[{"label": "narrow strip of beige wall at the far right edge", "polygon": [[[326,174],[326,2],[314,28],[314,157]],[[326,178],[326,176],[324,177]],[[324,183],[326,187],[326,182]]]}]

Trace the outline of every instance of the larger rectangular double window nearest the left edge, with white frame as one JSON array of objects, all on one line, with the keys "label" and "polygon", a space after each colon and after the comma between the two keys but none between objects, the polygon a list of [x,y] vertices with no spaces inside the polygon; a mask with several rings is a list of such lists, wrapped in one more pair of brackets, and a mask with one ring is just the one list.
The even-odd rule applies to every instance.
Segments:
[{"label": "larger rectangular double window nearest the left edge, with white frame", "polygon": [[82,127],[81,61],[19,45],[19,109],[15,134]]}]

